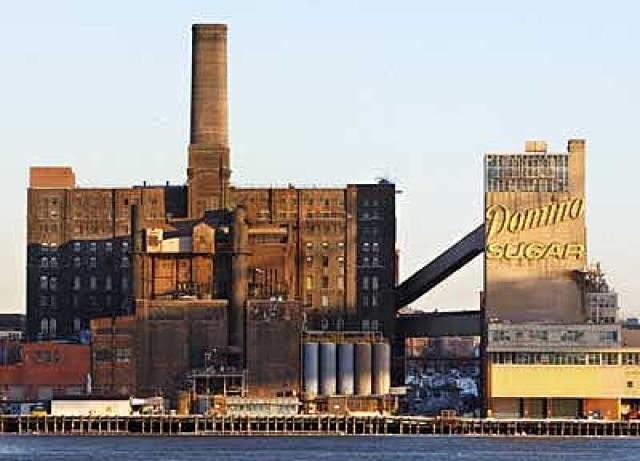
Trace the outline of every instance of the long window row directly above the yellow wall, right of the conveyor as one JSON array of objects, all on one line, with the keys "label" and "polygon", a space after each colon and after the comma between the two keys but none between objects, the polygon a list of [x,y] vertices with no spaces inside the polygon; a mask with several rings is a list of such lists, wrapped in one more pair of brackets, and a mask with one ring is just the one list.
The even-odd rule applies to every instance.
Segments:
[{"label": "long window row directly above the yellow wall, right of the conveyor", "polygon": [[[622,354],[623,365],[640,365],[640,354]],[[620,365],[617,352],[492,352],[491,362],[515,365]]]}]

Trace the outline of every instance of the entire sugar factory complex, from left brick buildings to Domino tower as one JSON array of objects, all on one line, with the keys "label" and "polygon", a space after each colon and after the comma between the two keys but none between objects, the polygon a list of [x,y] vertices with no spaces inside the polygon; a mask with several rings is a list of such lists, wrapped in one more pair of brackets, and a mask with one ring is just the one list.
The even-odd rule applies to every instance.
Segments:
[{"label": "entire sugar factory complex, from left brick buildings to Domino tower", "polygon": [[[638,414],[640,329],[587,259],[584,140],[487,154],[484,223],[400,282],[395,185],[235,185],[226,25],[193,26],[191,71],[186,184],[87,188],[31,168],[5,410]],[[476,309],[411,311],[479,255]]]}]

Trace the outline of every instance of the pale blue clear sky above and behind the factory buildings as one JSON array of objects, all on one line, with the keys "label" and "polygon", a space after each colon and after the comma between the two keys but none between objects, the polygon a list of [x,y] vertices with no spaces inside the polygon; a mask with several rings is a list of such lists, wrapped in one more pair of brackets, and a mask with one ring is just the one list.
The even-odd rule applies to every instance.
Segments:
[{"label": "pale blue clear sky above and behind the factory buildings", "polygon": [[[184,182],[191,24],[225,22],[235,184],[393,180],[403,279],[482,221],[484,153],[586,138],[588,256],[640,315],[638,17],[615,0],[0,0],[0,312],[25,306],[28,167]],[[481,288],[478,258],[415,306],[477,308]]]}]

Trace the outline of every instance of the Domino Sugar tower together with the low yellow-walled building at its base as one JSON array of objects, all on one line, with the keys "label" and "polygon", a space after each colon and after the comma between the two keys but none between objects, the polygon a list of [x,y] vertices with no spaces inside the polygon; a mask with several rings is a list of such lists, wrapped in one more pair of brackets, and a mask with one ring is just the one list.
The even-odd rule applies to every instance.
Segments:
[{"label": "Domino Sugar tower together with the low yellow-walled building at its base", "polygon": [[[617,419],[640,404],[636,338],[589,266],[585,142],[487,154],[484,308],[489,413]],[[626,347],[625,347],[626,346]]]}]

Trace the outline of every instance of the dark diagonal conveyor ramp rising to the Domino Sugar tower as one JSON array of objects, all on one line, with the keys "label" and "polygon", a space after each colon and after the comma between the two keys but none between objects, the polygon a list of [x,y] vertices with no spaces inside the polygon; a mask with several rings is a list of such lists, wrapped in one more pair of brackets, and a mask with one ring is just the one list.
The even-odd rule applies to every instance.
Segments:
[{"label": "dark diagonal conveyor ramp rising to the Domino Sugar tower", "polygon": [[396,287],[395,308],[401,309],[434,288],[484,251],[484,224]]}]

